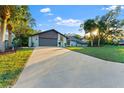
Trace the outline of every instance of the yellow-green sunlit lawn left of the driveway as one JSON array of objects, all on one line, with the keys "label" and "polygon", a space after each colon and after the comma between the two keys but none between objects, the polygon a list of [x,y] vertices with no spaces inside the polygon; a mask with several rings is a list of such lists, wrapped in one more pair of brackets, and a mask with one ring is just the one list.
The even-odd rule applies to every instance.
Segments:
[{"label": "yellow-green sunlit lawn left of the driveway", "polygon": [[11,87],[16,82],[31,53],[32,49],[21,49],[0,55],[0,87]]}]

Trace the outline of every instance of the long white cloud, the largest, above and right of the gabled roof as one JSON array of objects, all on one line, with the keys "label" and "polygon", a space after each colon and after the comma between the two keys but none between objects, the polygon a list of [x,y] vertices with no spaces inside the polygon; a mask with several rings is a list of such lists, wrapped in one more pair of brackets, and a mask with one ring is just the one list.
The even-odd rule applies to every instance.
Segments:
[{"label": "long white cloud, the largest, above and right of the gabled roof", "polygon": [[78,19],[62,19],[61,17],[56,17],[55,22],[57,25],[64,25],[64,26],[80,26],[82,23],[81,20]]}]

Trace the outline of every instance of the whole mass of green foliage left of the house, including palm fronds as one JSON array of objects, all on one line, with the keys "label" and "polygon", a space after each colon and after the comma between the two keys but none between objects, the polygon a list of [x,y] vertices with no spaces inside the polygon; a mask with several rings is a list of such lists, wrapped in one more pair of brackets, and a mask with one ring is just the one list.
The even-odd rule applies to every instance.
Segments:
[{"label": "whole mass of green foliage left of the house, including palm fronds", "polygon": [[29,7],[26,5],[0,6],[0,22],[2,23],[4,19],[7,19],[8,31],[13,32],[16,37],[17,46],[27,46],[28,37],[37,33],[36,30],[33,30],[33,27],[36,26],[35,19],[32,18]]}]

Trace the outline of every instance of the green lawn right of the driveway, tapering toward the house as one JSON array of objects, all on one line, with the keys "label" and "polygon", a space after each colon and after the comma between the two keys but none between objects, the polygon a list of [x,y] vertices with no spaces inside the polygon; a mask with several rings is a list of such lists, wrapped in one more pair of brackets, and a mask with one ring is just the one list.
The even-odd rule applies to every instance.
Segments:
[{"label": "green lawn right of the driveway, tapering toward the house", "polygon": [[68,47],[67,49],[108,61],[124,63],[123,46]]}]

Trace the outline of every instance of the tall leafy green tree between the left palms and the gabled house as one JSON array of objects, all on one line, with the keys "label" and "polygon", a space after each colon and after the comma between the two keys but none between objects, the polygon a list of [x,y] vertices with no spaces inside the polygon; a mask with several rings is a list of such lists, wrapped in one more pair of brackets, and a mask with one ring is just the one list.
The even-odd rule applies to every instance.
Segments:
[{"label": "tall leafy green tree between the left palms and the gabled house", "polygon": [[16,39],[20,41],[20,45],[23,45],[23,42],[21,42],[22,39],[24,44],[28,43],[28,35],[29,33],[34,33],[34,30],[31,29],[35,26],[35,19],[32,18],[28,6],[16,6],[16,11],[13,13],[8,23],[9,28],[12,27],[12,29],[8,29],[9,32],[14,33]]}]

